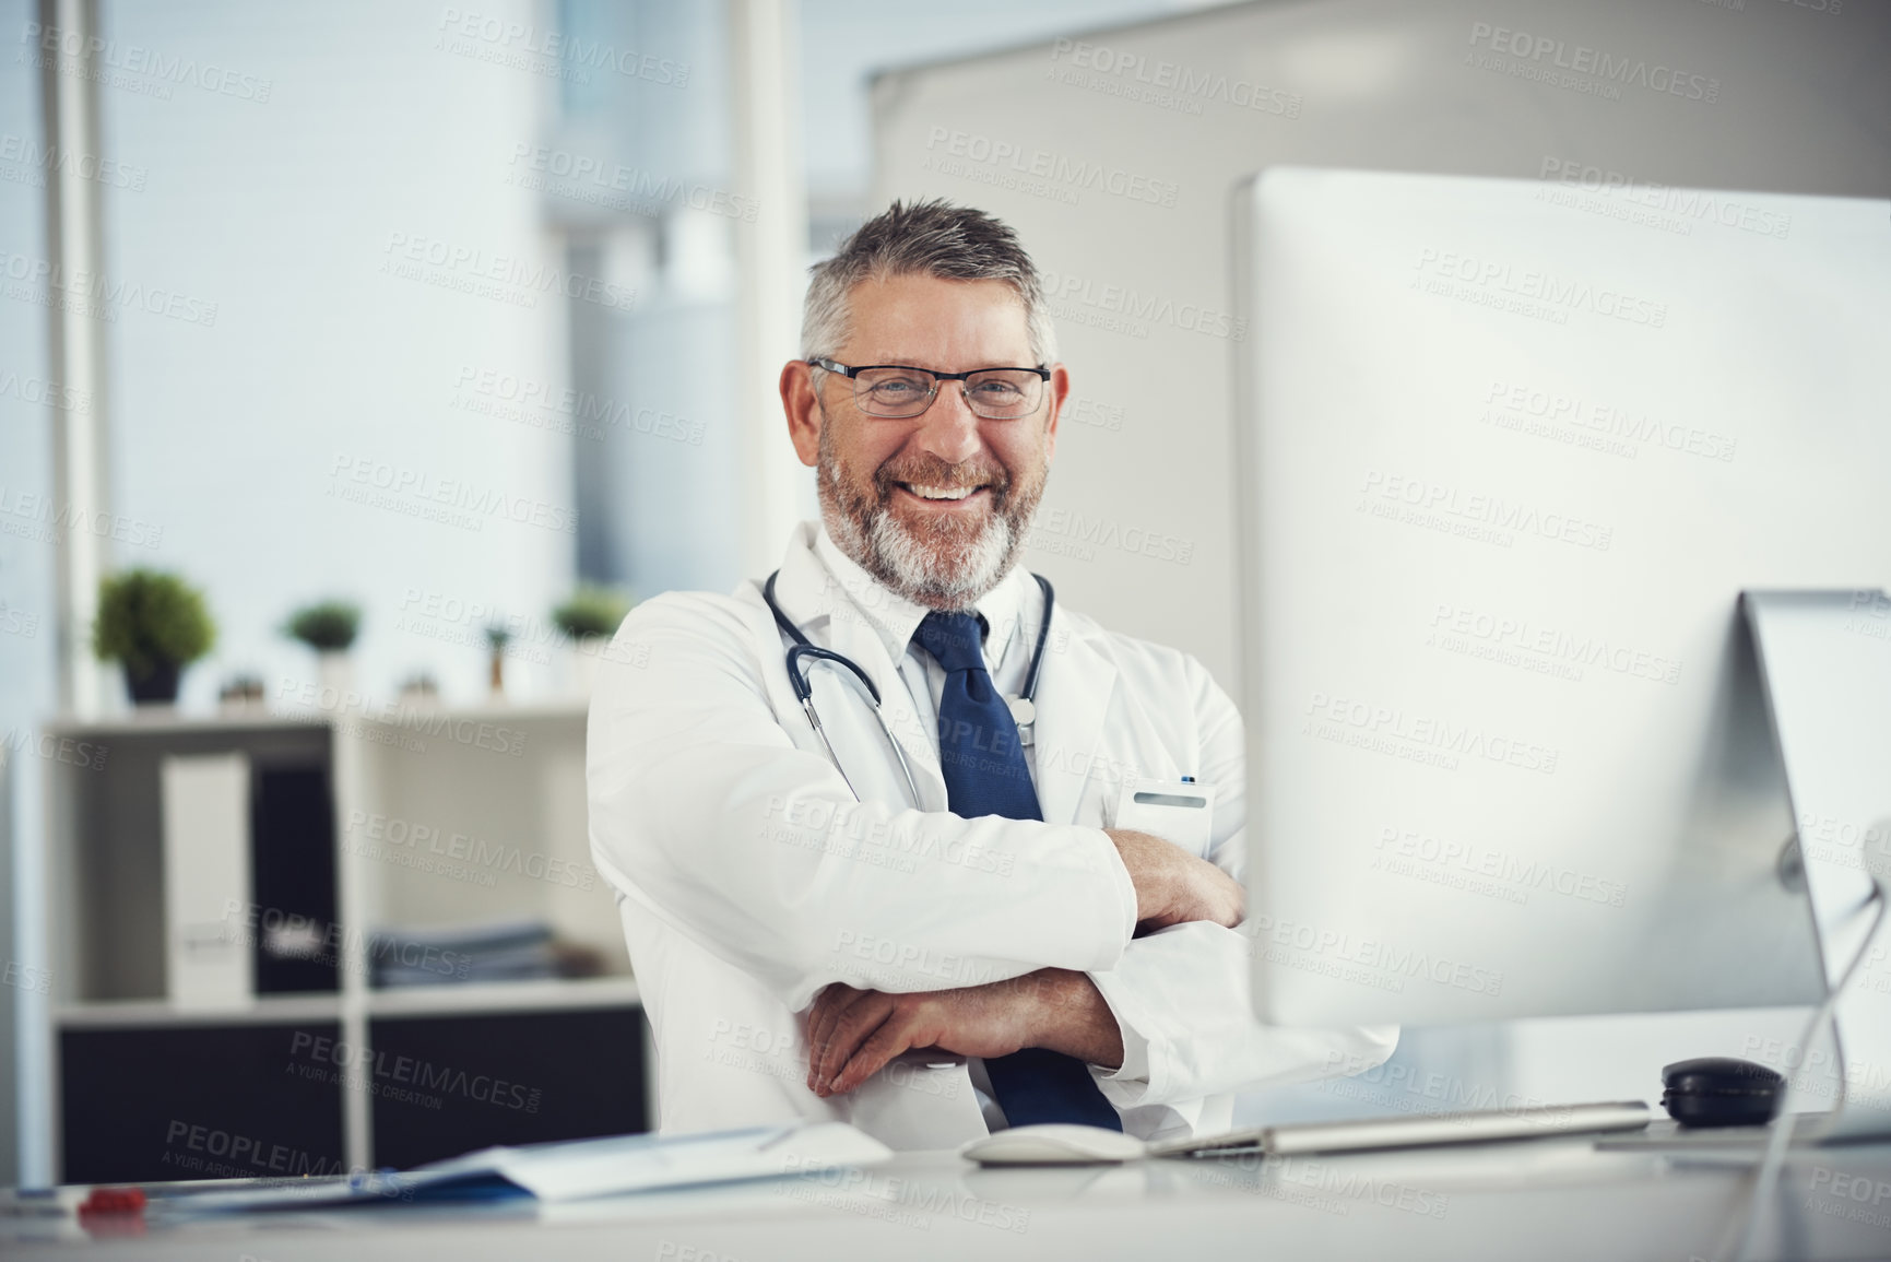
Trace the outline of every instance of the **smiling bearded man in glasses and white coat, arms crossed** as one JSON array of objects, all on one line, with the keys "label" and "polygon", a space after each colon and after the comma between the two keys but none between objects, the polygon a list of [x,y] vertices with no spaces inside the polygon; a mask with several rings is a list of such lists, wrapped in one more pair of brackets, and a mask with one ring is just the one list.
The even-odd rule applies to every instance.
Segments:
[{"label": "smiling bearded man in glasses and white coat, arms crossed", "polygon": [[[1384,1060],[1390,1029],[1252,1018],[1233,704],[1017,568],[1070,377],[1014,233],[894,202],[815,267],[802,342],[821,524],[772,579],[637,607],[592,700],[662,1128],[1212,1133],[1239,1090]],[[1206,829],[1104,827],[1184,778]]]}]

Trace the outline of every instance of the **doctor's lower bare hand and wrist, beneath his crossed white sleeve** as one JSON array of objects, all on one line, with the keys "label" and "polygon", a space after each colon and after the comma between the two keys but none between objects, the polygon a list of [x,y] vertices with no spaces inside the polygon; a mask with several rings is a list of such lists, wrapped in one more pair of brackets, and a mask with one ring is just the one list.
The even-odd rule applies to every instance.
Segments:
[{"label": "doctor's lower bare hand and wrist, beneath his crossed white sleeve", "polygon": [[1110,1005],[1087,976],[1068,969],[910,995],[836,982],[807,1010],[807,1088],[841,1095],[915,1048],[985,1058],[1031,1046],[1104,1069],[1123,1063],[1123,1033]]}]

